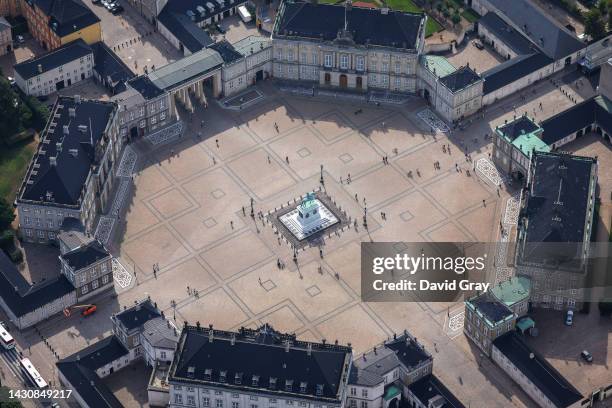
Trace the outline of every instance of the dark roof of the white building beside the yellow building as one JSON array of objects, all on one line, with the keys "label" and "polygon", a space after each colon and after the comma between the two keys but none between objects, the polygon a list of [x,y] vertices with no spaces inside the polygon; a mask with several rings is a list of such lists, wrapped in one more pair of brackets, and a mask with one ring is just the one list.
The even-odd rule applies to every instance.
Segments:
[{"label": "dark roof of the white building beside the yellow building", "polygon": [[42,72],[47,72],[92,53],[91,47],[79,38],[40,57],[15,64],[14,68],[15,72],[27,81],[41,74],[38,71],[39,65]]}]

